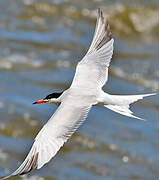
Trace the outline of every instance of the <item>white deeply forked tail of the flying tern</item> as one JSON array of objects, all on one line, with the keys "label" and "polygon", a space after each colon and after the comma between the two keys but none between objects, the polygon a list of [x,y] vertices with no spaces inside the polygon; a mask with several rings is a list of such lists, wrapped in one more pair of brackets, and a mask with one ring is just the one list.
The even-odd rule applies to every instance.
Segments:
[{"label": "white deeply forked tail of the flying tern", "polygon": [[144,120],[140,117],[134,116],[133,112],[130,110],[130,104],[143,99],[147,96],[156,95],[156,93],[152,94],[141,94],[141,95],[109,95],[105,94],[105,102],[104,107],[111,109],[119,114],[129,116],[132,118]]}]

